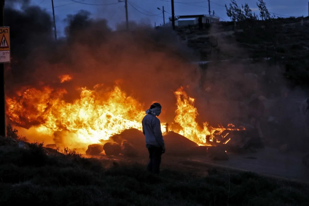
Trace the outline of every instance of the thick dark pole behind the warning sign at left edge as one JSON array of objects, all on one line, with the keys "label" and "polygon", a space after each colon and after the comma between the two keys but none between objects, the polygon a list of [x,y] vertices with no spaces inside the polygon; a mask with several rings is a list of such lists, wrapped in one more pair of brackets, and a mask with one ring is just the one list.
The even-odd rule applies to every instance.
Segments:
[{"label": "thick dark pole behind the warning sign at left edge", "polygon": [[[0,1],[0,27],[4,26],[4,0]],[[6,137],[6,116],[5,116],[5,82],[4,82],[4,63],[0,63],[0,79],[2,81],[1,83],[1,89],[0,89],[0,120],[1,126],[0,126],[0,136]]]}]

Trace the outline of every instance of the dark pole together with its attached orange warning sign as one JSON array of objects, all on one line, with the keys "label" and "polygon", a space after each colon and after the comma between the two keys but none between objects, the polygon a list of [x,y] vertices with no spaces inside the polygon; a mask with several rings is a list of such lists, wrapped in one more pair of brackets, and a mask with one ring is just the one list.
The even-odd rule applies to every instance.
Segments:
[{"label": "dark pole together with its attached orange warning sign", "polygon": [[0,1],[0,136],[6,136],[4,63],[11,61],[10,28],[4,26],[4,0]]}]

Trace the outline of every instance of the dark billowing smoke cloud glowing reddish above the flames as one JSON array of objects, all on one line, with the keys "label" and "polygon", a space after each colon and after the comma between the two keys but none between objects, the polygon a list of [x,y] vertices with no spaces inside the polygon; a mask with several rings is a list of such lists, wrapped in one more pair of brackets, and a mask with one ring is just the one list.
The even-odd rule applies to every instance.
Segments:
[{"label": "dark billowing smoke cloud glowing reddish above the flames", "polygon": [[[66,100],[78,97],[76,88],[115,85],[145,104],[159,101],[167,111],[162,118],[175,117],[173,91],[197,86],[199,69],[189,65],[193,53],[181,45],[170,29],[157,29],[130,22],[130,31],[112,31],[104,19],[91,19],[79,11],[64,19],[66,38],[54,41],[52,18],[39,7],[21,11],[6,9],[11,27],[12,63],[7,71],[7,95],[21,86],[65,88]],[[60,84],[58,76],[73,80]]]}]

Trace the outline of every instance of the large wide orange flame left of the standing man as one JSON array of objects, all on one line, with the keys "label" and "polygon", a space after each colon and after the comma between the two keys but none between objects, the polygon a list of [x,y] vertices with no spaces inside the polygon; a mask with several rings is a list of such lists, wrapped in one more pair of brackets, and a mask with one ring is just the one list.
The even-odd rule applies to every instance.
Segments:
[{"label": "large wide orange flame left of the standing man", "polygon": [[[54,131],[68,131],[72,138],[66,144],[99,143],[129,128],[142,130],[145,115],[142,105],[127,97],[120,88],[100,92],[81,88],[80,98],[73,103],[62,100],[66,90],[44,87],[24,89],[18,98],[6,98],[7,115],[23,127],[37,125],[36,131],[53,135]],[[162,123],[162,130],[164,128]]]}]

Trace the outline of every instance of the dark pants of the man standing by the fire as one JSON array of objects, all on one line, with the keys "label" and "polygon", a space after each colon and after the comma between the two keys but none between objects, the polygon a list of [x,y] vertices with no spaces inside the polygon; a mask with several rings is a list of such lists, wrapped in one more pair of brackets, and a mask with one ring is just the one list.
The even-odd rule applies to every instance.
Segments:
[{"label": "dark pants of the man standing by the fire", "polygon": [[149,163],[148,163],[148,166],[147,166],[147,170],[149,172],[159,174],[160,164],[161,164],[162,148],[148,147],[148,152],[149,152]]}]

